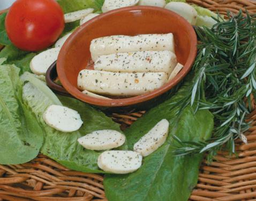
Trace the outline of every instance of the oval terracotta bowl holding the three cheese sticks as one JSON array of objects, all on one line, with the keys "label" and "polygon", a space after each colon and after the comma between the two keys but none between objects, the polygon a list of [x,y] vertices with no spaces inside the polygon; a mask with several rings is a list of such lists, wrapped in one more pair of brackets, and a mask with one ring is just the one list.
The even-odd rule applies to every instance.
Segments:
[{"label": "oval terracotta bowl holding the three cheese sticks", "polygon": [[[174,34],[177,60],[184,65],[184,68],[160,89],[133,98],[112,100],[89,97],[77,89],[79,71],[85,69],[91,60],[89,46],[92,39],[111,35],[165,33]],[[184,18],[158,7],[124,7],[101,14],[74,31],[59,53],[57,74],[65,90],[81,101],[103,107],[143,105],[178,84],[189,73],[196,55],[197,36],[193,27]]]}]

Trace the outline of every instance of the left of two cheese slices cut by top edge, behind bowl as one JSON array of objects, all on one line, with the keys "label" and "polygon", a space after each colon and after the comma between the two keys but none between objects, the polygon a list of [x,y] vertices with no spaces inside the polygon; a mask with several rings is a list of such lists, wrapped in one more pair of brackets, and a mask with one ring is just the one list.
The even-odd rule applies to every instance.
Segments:
[{"label": "left of two cheese slices cut by top edge, behind bowl", "polygon": [[136,5],[139,0],[105,0],[101,8],[103,13],[114,9],[120,9],[121,7]]}]

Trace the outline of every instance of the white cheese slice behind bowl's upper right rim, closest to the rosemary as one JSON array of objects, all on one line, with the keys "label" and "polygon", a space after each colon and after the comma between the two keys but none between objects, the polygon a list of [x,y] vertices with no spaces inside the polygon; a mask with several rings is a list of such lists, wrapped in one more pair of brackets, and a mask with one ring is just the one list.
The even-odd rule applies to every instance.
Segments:
[{"label": "white cheese slice behind bowl's upper right rim, closest to the rosemary", "polygon": [[191,25],[197,23],[197,11],[189,4],[184,2],[170,2],[165,9],[173,11],[185,18]]}]

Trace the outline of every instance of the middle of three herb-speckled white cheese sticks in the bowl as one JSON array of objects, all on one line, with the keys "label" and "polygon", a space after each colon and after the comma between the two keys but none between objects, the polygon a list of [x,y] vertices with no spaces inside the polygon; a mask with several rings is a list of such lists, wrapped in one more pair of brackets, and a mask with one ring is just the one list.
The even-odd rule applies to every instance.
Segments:
[{"label": "middle of three herb-speckled white cheese sticks in the bowl", "polygon": [[95,70],[121,73],[164,72],[170,75],[177,65],[170,51],[142,51],[101,55],[94,63]]}]

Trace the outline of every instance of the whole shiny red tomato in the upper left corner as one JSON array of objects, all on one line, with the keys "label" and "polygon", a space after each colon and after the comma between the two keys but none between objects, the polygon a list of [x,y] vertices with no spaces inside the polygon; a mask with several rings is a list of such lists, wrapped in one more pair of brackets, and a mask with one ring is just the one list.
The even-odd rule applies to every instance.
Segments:
[{"label": "whole shiny red tomato in the upper left corner", "polygon": [[55,0],[17,0],[5,19],[11,42],[27,51],[39,51],[52,45],[64,25],[64,13]]}]

